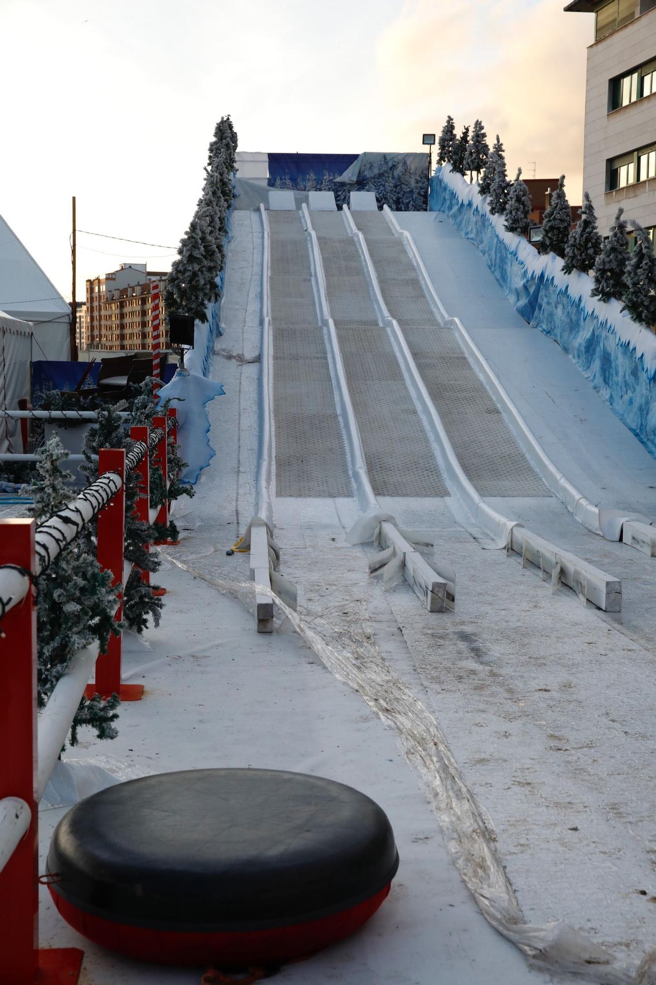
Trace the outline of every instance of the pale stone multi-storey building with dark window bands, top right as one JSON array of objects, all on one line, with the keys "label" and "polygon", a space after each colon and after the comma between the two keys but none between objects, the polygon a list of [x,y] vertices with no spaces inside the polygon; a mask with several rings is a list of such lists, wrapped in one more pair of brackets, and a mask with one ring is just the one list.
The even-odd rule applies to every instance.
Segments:
[{"label": "pale stone multi-storey building with dark window bands, top right", "polygon": [[588,48],[583,188],[608,235],[618,211],[656,228],[656,0],[573,0],[595,15]]}]

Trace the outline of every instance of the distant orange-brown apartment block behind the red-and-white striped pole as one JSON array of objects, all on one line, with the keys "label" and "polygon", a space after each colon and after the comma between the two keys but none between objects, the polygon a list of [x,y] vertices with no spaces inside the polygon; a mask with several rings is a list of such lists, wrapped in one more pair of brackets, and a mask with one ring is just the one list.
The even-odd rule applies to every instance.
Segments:
[{"label": "distant orange-brown apartment block behind the red-and-white striped pole", "polygon": [[145,263],[122,263],[104,277],[87,281],[84,349],[125,352],[153,348],[151,283],[160,284],[162,348],[168,344],[164,324],[166,273],[148,271]]}]

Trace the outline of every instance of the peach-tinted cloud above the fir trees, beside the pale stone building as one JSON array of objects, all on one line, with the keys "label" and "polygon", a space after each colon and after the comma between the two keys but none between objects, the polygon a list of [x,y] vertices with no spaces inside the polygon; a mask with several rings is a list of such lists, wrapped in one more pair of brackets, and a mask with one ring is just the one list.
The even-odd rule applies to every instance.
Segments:
[{"label": "peach-tinted cloud above the fir trees, beside the pale stone building", "polygon": [[[405,141],[483,119],[500,134],[508,170],[567,175],[581,199],[585,49],[590,18],[564,14],[563,0],[413,0],[382,32],[377,71],[388,112]],[[409,111],[408,107],[412,107]]]}]

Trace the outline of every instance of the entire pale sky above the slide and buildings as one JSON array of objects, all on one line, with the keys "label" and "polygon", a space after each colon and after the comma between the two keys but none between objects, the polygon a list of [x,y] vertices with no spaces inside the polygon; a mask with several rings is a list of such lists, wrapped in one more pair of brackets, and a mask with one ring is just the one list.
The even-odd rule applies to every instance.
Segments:
[{"label": "entire pale sky above the slide and buildings", "polygon": [[563,6],[0,0],[0,215],[67,300],[72,195],[80,230],[173,247],[80,233],[78,299],[120,262],[166,270],[229,112],[240,150],[354,154],[481,117],[511,176],[564,172],[579,204],[593,18]]}]

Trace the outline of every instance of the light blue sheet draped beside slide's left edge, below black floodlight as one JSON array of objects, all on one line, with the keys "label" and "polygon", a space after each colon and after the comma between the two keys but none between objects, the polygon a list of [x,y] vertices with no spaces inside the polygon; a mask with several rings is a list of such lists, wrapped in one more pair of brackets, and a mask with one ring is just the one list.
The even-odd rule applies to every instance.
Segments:
[{"label": "light blue sheet draped beside slide's left edge, below black floodlight", "polygon": [[180,456],[187,463],[180,475],[183,483],[193,485],[217,453],[210,444],[210,419],[205,406],[225,393],[222,383],[188,369],[178,369],[160,390],[160,400],[170,399],[177,412],[177,441]]}]

